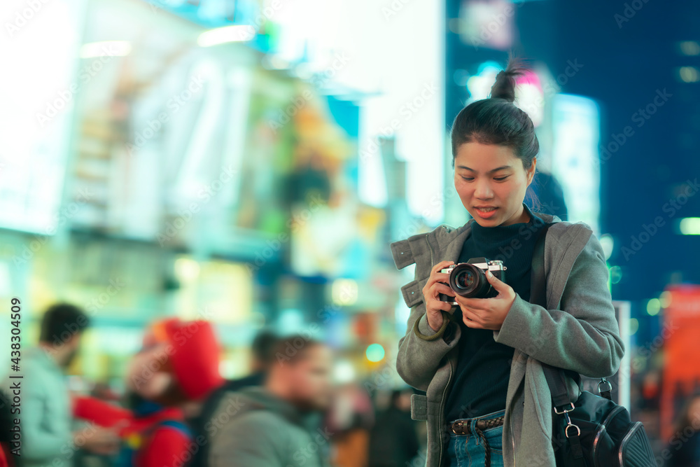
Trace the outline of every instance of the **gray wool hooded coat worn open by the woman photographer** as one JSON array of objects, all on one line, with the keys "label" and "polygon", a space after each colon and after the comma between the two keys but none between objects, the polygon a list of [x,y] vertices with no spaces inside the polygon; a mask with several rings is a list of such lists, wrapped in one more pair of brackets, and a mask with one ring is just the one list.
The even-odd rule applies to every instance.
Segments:
[{"label": "gray wool hooded coat worn open by the woman photographer", "polygon": [[[535,215],[546,223],[560,221],[548,214]],[[415,279],[401,288],[411,313],[399,342],[396,369],[405,382],[426,391],[426,396],[413,396],[411,411],[414,419],[428,423],[427,467],[438,467],[446,459],[449,428],[444,403],[454,379],[461,330],[450,323],[451,329],[435,335],[426,319],[422,289],[433,265],[457,262],[472,222],[457,229],[441,225],[391,244],[399,269],[416,263]],[[514,349],[503,426],[506,467],[555,466],[552,398],[540,362],[588,377],[608,377],[617,371],[624,354],[605,256],[587,224],[556,222],[549,228],[545,276],[547,309],[516,295],[503,326],[493,331],[496,342]],[[580,386],[568,377],[567,383],[574,400]]]}]

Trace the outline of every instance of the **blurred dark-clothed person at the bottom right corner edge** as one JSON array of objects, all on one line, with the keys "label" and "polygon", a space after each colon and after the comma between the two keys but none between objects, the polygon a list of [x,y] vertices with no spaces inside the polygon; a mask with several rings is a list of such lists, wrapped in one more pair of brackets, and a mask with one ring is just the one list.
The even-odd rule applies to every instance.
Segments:
[{"label": "blurred dark-clothed person at the bottom right corner edge", "polygon": [[668,447],[668,467],[700,467],[700,392],[694,393],[680,411]]}]

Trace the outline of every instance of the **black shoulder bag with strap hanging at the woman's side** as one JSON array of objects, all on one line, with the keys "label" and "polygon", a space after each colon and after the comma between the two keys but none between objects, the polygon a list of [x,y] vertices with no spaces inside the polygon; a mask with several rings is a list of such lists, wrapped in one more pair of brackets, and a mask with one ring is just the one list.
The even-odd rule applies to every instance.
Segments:
[{"label": "black shoulder bag with strap hanging at the woman's side", "polygon": [[[547,308],[545,294],[545,237],[552,223],[542,228],[532,256],[530,302]],[[572,401],[564,375],[580,375],[542,363],[552,392],[552,447],[560,467],[655,467],[654,453],[640,421],[631,421],[629,412],[612,401],[612,385],[601,378],[596,396],[582,391]],[[601,389],[605,387],[605,390]]]}]

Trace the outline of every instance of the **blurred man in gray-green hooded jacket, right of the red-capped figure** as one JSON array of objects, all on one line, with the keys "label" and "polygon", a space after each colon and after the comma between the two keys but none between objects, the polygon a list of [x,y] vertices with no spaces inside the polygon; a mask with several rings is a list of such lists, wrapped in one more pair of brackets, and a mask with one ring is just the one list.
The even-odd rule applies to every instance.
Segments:
[{"label": "blurred man in gray-green hooded jacket, right of the red-capped figure", "polygon": [[211,420],[211,467],[328,466],[332,355],[302,335],[280,340],[265,386],[227,393]]}]

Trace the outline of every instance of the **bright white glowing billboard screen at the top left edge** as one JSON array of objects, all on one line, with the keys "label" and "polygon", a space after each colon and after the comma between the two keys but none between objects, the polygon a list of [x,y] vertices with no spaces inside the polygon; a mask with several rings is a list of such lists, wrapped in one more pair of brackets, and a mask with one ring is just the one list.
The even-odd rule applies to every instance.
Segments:
[{"label": "bright white glowing billboard screen at the top left edge", "polygon": [[[62,209],[70,127],[87,74],[74,66],[80,46],[80,2],[3,2],[0,61],[0,228],[54,235],[71,211]],[[10,19],[11,18],[11,19]],[[11,44],[11,46],[10,46]],[[10,72],[10,64],[22,64]],[[46,73],[50,70],[50,73]],[[82,197],[89,196],[83,193]],[[71,207],[71,209],[76,206]]]}]

